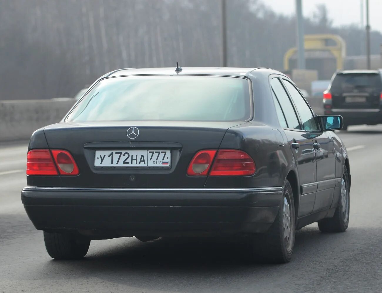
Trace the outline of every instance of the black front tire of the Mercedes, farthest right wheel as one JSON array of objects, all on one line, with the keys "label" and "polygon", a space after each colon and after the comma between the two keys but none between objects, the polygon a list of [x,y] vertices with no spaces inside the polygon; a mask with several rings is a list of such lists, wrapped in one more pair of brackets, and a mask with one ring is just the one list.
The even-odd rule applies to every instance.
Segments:
[{"label": "black front tire of the Mercedes, farthest right wheel", "polygon": [[[338,198],[338,206],[334,212],[334,216],[332,218],[325,218],[318,221],[318,228],[321,232],[324,233],[335,233],[335,232],[345,232],[349,226],[349,216],[350,216],[350,185],[349,185],[349,175],[348,169],[346,166],[343,168],[342,180],[345,184],[346,188],[346,211],[343,209],[343,198],[342,198],[342,189],[341,195]],[[341,182],[342,188],[342,182]]]}]

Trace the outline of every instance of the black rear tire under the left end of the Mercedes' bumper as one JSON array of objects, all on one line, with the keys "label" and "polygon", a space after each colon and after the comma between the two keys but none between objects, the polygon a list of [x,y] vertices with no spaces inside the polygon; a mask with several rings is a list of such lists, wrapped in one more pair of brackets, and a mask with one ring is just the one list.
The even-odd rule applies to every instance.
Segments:
[{"label": "black rear tire under the left end of the Mercedes' bumper", "polygon": [[89,250],[90,239],[71,233],[44,231],[45,248],[54,259],[81,259]]}]

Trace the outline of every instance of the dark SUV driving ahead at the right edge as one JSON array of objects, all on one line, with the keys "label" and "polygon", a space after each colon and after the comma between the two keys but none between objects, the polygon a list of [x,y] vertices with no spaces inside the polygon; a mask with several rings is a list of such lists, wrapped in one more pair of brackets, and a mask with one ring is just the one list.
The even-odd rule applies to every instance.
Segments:
[{"label": "dark SUV driving ahead at the right edge", "polygon": [[337,71],[324,92],[325,115],[341,115],[350,125],[382,123],[382,71]]}]

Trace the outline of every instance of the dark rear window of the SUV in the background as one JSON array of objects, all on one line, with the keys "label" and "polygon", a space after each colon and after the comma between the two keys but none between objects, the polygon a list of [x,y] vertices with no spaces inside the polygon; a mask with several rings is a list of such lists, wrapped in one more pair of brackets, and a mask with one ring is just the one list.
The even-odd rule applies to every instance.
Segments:
[{"label": "dark rear window of the SUV in the background", "polygon": [[377,73],[339,73],[334,77],[332,91],[382,88],[382,81]]}]

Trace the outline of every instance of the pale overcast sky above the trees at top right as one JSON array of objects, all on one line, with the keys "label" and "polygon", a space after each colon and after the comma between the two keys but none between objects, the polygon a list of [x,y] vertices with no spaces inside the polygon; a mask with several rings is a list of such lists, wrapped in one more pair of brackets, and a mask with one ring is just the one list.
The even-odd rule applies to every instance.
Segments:
[{"label": "pale overcast sky above the trees at top right", "polygon": [[[296,0],[262,0],[274,11],[282,14],[295,13]],[[325,4],[329,18],[333,25],[358,24],[361,25],[361,1],[362,0],[302,0],[303,14],[310,17],[317,4]],[[364,26],[366,26],[366,0],[364,4]],[[369,19],[371,29],[382,32],[382,0],[369,0]]]}]

